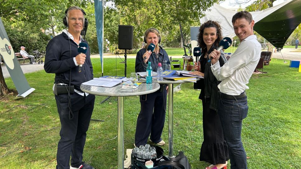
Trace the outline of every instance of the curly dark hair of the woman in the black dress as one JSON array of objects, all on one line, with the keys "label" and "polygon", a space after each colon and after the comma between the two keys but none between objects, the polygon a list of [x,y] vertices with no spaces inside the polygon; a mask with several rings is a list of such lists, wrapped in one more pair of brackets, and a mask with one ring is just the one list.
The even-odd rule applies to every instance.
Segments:
[{"label": "curly dark hair of the woman in the black dress", "polygon": [[203,34],[204,34],[204,29],[205,28],[210,28],[210,27],[216,28],[217,39],[214,41],[214,44],[213,44],[214,46],[219,46],[219,42],[223,39],[222,27],[219,25],[218,22],[216,22],[216,21],[207,21],[207,22],[203,23],[200,26],[199,34],[198,34],[198,45],[202,49],[202,52],[205,52],[205,51],[208,52],[208,50],[209,50],[209,49],[207,49],[207,45],[205,44],[205,42],[203,40]]}]

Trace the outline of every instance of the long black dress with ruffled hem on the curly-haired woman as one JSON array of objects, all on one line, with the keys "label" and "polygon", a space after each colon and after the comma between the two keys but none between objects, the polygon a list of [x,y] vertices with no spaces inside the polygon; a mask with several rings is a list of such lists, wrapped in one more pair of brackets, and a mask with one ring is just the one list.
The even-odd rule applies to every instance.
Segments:
[{"label": "long black dress with ruffled hem on the curly-haired woman", "polygon": [[[216,106],[218,105],[212,106],[212,103],[219,102],[219,97],[217,96],[217,85],[219,84],[219,81],[217,81],[217,79],[214,77],[210,68],[211,63],[208,63],[207,60],[207,58],[204,58],[204,54],[200,57],[199,60],[201,71],[205,73],[205,79],[201,79],[200,81],[200,83],[202,84],[200,84],[201,92],[199,96],[203,104],[204,131],[204,142],[202,143],[200,150],[200,161],[209,162],[213,165],[224,164],[229,160],[228,146],[226,141],[224,140],[223,128],[219,119],[219,115],[217,113]],[[222,62],[222,65],[224,64],[222,60],[220,62]],[[208,74],[206,75],[206,73]],[[208,85],[210,87],[207,87],[205,89],[205,87]],[[213,107],[215,110],[212,109]]]}]

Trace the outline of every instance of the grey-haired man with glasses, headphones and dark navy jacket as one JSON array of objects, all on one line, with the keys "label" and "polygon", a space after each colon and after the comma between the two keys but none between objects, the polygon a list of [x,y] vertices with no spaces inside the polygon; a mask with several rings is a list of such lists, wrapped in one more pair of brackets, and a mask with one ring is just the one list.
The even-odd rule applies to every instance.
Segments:
[{"label": "grey-haired man with glasses, headphones and dark navy jacket", "polygon": [[[80,35],[88,25],[84,15],[80,7],[69,7],[63,18],[66,30],[52,38],[46,47],[44,69],[46,73],[55,73],[53,90],[61,122],[57,169],[94,169],[82,161],[95,101],[94,95],[80,89],[83,82],[93,79],[90,48]],[[86,54],[78,53],[79,43],[87,44]]]}]

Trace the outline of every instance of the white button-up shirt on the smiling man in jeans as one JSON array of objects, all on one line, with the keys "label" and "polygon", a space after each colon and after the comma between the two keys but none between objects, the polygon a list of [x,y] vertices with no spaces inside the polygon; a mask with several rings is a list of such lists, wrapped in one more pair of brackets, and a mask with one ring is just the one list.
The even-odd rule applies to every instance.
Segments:
[{"label": "white button-up shirt on the smiling man in jeans", "polygon": [[228,95],[240,95],[247,84],[260,59],[261,45],[256,35],[250,35],[242,40],[231,58],[222,67],[219,61],[211,65],[211,70],[217,80],[222,81],[218,87],[220,92]]}]

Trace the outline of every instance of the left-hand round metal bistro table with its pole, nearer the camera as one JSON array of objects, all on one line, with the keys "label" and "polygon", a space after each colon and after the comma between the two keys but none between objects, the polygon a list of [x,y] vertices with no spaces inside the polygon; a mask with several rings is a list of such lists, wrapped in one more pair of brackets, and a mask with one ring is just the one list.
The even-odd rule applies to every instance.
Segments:
[{"label": "left-hand round metal bistro table with its pole, nearer the camera", "polygon": [[141,83],[138,88],[132,92],[120,91],[122,84],[115,87],[97,87],[81,85],[81,90],[93,95],[99,96],[117,96],[118,97],[118,169],[124,169],[124,96],[138,96],[153,93],[159,90],[160,85],[157,82],[152,84]]}]

